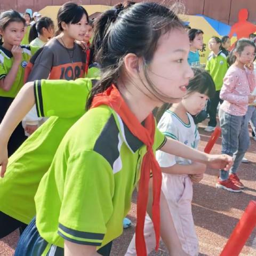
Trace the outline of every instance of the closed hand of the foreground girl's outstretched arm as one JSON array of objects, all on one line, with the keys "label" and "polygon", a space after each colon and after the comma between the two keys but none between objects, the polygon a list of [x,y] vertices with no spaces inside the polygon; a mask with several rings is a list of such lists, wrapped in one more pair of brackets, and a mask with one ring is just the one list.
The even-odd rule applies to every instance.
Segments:
[{"label": "closed hand of the foreground girl's outstretched arm", "polygon": [[212,169],[228,171],[233,165],[233,158],[228,155],[208,155],[207,166]]}]

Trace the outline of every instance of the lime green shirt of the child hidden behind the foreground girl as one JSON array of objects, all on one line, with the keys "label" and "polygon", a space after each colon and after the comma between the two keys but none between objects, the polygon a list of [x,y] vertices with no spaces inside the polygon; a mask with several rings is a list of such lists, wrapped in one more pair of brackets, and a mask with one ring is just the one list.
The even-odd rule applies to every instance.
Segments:
[{"label": "lime green shirt of the child hidden behind the foreground girl", "polygon": [[[35,216],[34,196],[68,129],[85,113],[92,82],[35,81],[39,116],[50,117],[9,158],[5,177],[0,178],[0,211],[28,224]],[[57,117],[58,116],[58,117]]]}]

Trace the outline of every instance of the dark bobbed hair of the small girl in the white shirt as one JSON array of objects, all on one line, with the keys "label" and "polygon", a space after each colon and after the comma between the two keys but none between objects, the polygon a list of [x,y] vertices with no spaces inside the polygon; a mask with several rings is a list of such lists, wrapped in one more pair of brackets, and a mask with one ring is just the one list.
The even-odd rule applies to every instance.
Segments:
[{"label": "dark bobbed hair of the small girl in the white shirt", "polygon": [[[194,77],[190,79],[187,86],[187,93],[189,96],[194,92],[207,95],[209,98],[213,98],[215,94],[215,85],[211,75],[204,69],[198,67],[191,67],[194,72]],[[153,114],[156,117],[157,123],[163,116],[164,112],[172,106],[170,103],[164,103],[161,107],[155,108]]]}]

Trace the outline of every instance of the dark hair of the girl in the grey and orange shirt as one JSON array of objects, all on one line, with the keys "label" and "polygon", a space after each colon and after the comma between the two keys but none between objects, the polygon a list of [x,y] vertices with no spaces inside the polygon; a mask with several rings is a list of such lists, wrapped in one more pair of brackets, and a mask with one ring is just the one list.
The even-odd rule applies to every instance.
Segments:
[{"label": "dark hair of the girl in the grey and orange shirt", "polygon": [[63,31],[61,26],[61,22],[65,22],[66,24],[76,24],[78,23],[83,15],[85,14],[87,21],[89,21],[89,16],[83,6],[77,5],[75,3],[68,2],[63,4],[57,14],[57,22],[58,22],[58,31],[57,34],[60,34]]}]

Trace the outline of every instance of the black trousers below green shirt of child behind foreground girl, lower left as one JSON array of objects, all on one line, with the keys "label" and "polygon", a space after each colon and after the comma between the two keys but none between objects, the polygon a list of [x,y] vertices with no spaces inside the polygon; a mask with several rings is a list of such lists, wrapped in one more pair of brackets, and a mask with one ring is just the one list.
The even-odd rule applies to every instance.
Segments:
[{"label": "black trousers below green shirt of child behind foreground girl, lower left", "polygon": [[14,230],[20,230],[20,235],[27,225],[0,211],[0,239],[11,234]]}]

